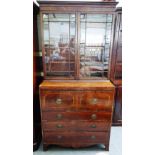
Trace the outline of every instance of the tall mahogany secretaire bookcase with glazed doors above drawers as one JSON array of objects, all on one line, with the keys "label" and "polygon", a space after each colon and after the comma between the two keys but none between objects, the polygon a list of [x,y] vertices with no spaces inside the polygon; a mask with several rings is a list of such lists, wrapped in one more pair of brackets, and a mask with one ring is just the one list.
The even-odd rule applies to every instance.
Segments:
[{"label": "tall mahogany secretaire bookcase with glazed doors above drawers", "polygon": [[115,87],[110,82],[115,0],[40,5],[44,81],[43,149],[50,144],[109,150]]}]

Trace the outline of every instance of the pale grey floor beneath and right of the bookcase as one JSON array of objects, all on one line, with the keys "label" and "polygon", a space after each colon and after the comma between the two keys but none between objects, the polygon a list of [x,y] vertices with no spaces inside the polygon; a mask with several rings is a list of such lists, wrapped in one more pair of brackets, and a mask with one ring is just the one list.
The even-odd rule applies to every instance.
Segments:
[{"label": "pale grey floor beneath and right of the bookcase", "polygon": [[110,150],[104,151],[101,145],[95,145],[87,148],[72,149],[59,146],[51,146],[44,152],[42,145],[33,153],[33,155],[122,155],[122,128],[112,127],[110,137]]}]

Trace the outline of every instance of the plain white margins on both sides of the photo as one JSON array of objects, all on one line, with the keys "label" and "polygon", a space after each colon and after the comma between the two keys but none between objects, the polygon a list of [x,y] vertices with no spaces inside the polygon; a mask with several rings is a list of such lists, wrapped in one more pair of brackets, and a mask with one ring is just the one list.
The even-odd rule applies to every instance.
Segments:
[{"label": "plain white margins on both sides of the photo", "polygon": [[[124,0],[123,155],[155,154],[155,9]],[[0,2],[0,154],[33,154],[33,4]]]}]

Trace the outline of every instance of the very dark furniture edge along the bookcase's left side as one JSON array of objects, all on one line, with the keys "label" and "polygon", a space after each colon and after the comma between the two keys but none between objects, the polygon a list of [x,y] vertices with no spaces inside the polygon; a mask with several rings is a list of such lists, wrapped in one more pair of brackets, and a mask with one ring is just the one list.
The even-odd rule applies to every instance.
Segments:
[{"label": "very dark furniture edge along the bookcase's left side", "polygon": [[37,14],[38,6],[33,3],[33,150],[37,150],[41,141],[41,123],[39,109],[39,85],[37,79],[37,60],[35,52],[38,50]]}]

